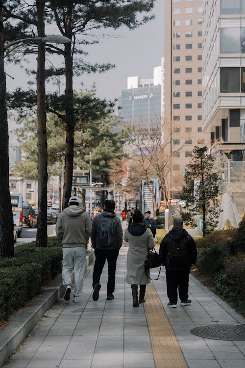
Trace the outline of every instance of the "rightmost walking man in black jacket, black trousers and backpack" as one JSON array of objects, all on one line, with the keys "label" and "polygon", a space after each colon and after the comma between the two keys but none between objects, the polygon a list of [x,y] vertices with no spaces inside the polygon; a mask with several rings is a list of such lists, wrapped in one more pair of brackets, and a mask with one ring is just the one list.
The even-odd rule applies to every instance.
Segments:
[{"label": "rightmost walking man in black jacket, black trousers and backpack", "polygon": [[177,289],[181,305],[191,304],[188,299],[189,273],[196,263],[196,243],[183,229],[183,220],[175,218],[172,230],[160,244],[159,256],[166,268],[168,307],[176,308]]}]

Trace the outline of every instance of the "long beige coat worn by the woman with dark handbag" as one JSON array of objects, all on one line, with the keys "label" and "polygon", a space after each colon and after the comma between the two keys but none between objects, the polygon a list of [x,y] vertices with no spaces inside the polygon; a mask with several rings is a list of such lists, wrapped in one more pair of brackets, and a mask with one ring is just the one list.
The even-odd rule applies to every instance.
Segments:
[{"label": "long beige coat worn by the woman with dark handbag", "polygon": [[[128,284],[145,285],[150,282],[145,272],[145,259],[148,249],[155,246],[150,229],[139,236],[134,236],[126,229],[123,239],[129,243],[127,252],[127,275]],[[149,272],[149,271],[148,271]],[[150,277],[150,274],[148,274]]]}]

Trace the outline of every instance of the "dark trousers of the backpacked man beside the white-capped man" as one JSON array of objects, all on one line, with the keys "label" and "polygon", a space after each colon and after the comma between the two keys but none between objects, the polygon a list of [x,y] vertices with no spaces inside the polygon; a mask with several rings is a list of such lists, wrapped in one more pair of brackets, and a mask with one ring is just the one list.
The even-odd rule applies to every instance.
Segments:
[{"label": "dark trousers of the backpacked man beside the white-capped man", "polygon": [[107,260],[108,263],[107,291],[114,292],[118,254],[119,254],[118,249],[110,249],[110,250],[95,249],[93,287],[96,284],[99,284],[100,275],[103,271],[105,261]]}]

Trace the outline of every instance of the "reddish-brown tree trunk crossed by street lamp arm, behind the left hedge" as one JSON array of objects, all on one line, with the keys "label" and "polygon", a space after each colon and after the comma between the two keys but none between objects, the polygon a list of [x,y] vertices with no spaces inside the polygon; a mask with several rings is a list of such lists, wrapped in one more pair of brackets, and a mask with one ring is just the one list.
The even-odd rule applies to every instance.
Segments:
[{"label": "reddish-brown tree trunk crossed by street lamp arm, behind the left hedge", "polygon": [[[44,7],[45,0],[37,0],[37,34],[45,36]],[[45,105],[45,44],[38,43],[37,54],[37,149],[38,149],[38,217],[37,247],[47,247],[47,183],[48,183],[48,152]]]}]

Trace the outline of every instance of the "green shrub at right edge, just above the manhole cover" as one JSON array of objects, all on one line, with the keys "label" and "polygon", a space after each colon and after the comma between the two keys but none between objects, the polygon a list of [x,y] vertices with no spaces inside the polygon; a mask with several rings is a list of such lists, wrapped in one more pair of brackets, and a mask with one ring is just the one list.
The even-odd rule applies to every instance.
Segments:
[{"label": "green shrub at right edge, just above the manhole cover", "polygon": [[245,254],[228,258],[214,285],[225,300],[245,311]]}]

